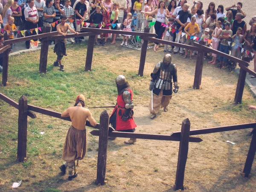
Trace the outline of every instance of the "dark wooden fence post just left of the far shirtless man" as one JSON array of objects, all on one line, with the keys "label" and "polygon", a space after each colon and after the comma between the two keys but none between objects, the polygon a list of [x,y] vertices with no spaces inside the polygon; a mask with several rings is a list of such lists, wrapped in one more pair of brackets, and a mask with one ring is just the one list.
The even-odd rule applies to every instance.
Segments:
[{"label": "dark wooden fence post just left of the far shirtless man", "polygon": [[[51,31],[51,26],[46,26],[43,28],[43,33],[49,33]],[[40,63],[39,63],[39,73],[46,73],[47,69],[47,57],[48,57],[49,41],[42,41],[41,53],[40,53]]]}]

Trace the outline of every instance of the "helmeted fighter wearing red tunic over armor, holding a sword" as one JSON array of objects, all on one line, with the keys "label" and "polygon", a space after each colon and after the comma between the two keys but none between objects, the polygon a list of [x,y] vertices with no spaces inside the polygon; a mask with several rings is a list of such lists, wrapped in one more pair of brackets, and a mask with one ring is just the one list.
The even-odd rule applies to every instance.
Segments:
[{"label": "helmeted fighter wearing red tunic over armor, holding a sword", "polygon": [[[118,76],[116,78],[116,87],[118,96],[116,99],[116,106],[110,116],[109,123],[116,131],[134,132],[137,125],[134,122],[134,104],[132,102],[133,92],[128,84],[125,76]],[[125,143],[131,144],[137,141],[136,138],[131,138]]]}]

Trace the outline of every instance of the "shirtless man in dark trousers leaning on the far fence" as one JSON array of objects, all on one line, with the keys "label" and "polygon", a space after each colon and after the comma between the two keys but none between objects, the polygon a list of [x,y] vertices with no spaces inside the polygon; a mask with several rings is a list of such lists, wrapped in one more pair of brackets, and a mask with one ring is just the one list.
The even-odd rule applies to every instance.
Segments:
[{"label": "shirtless man in dark trousers leaning on the far fence", "polygon": [[[73,29],[71,29],[70,25],[66,23],[67,17],[65,15],[61,15],[61,23],[59,23],[56,27],[58,34],[63,35],[66,37],[67,35],[67,29],[70,30],[70,32],[75,33],[76,35],[79,34],[79,32],[75,32]],[[57,59],[54,61],[53,65],[55,67],[60,67],[60,71],[64,71],[64,65],[61,64],[62,57],[66,54],[66,41],[67,39],[56,39],[55,40],[55,46],[53,49],[53,52],[56,52]]]}]

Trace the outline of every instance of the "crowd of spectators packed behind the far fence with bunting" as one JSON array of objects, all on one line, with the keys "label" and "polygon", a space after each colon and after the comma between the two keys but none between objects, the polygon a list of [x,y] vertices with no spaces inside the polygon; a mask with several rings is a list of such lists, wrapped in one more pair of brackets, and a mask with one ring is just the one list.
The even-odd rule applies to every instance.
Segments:
[{"label": "crowd of spectators packed behind the far fence with bunting", "polygon": [[[188,45],[203,40],[205,45],[227,54],[231,52],[237,58],[243,57],[246,61],[254,59],[256,72],[256,18],[253,17],[250,26],[247,25],[243,20],[246,17],[243,4],[238,2],[224,7],[211,2],[204,9],[202,1],[191,0],[189,3],[187,0],[145,0],[143,11],[143,0],[1,0],[1,33],[7,33],[12,39],[42,33],[46,26],[56,31],[61,15],[66,15],[67,23],[76,32],[92,24],[102,29],[134,31],[140,12],[148,15],[145,24],[154,22],[151,32],[157,34],[156,38]],[[105,46],[109,36],[102,34],[100,41],[96,36],[95,44]],[[75,41],[72,38],[67,40],[81,42],[79,37]],[[111,44],[115,44],[115,40],[116,35],[112,34]],[[127,44],[128,36],[125,36],[122,46]],[[30,43],[26,41],[26,48],[29,47]],[[155,43],[154,51],[157,49],[158,43]],[[12,52],[12,49],[9,51]],[[190,59],[197,54],[180,47],[165,46],[166,51],[179,53],[183,58],[187,58],[189,52]],[[216,54],[206,56],[212,58],[209,63],[220,61],[223,67],[227,63],[225,58]]]}]

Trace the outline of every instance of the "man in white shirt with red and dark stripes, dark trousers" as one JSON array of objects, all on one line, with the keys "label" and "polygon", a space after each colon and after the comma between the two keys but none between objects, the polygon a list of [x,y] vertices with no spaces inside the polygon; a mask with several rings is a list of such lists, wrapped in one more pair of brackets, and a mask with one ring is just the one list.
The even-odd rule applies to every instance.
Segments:
[{"label": "man in white shirt with red and dark stripes, dark trousers", "polygon": [[[24,16],[26,19],[25,22],[25,29],[26,35],[25,36],[30,36],[30,35],[36,35],[35,28],[38,28],[38,11],[36,9],[35,1],[34,0],[28,0],[28,7],[24,10]],[[33,29],[33,30],[30,30]],[[34,39],[34,41],[37,41],[37,39]],[[26,41],[26,48],[29,49],[30,47],[30,42]]]}]

